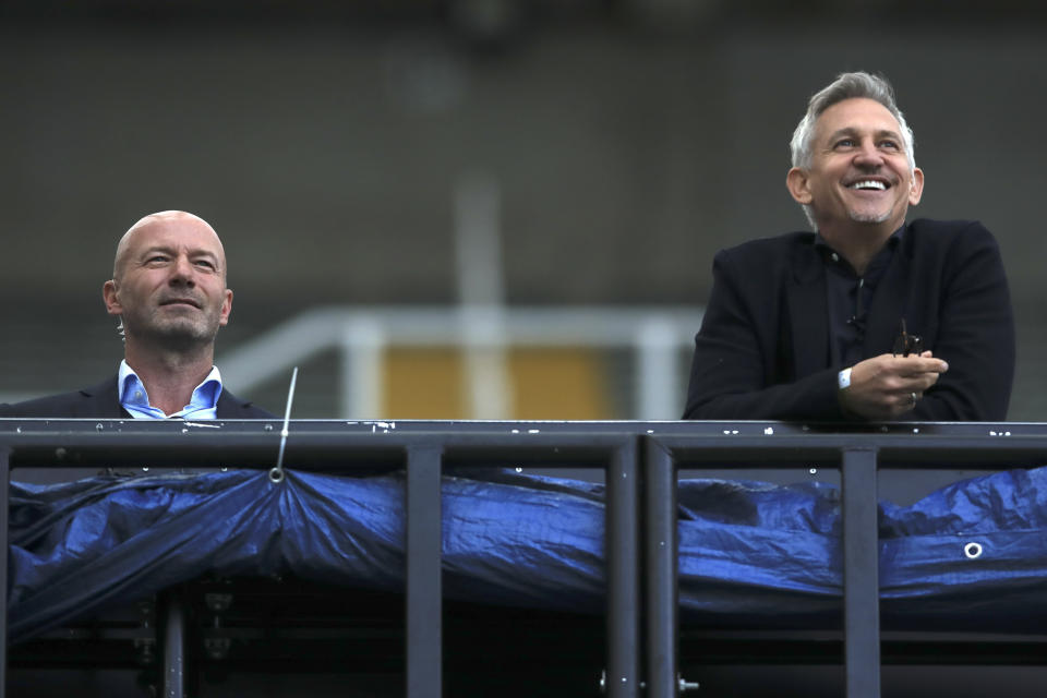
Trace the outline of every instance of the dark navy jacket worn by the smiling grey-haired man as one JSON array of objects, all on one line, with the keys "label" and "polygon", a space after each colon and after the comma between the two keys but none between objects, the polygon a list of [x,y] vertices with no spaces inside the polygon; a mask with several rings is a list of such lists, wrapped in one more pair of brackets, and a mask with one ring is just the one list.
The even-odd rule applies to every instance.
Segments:
[{"label": "dark navy jacket worn by the smiling grey-haired man", "polygon": [[[719,252],[695,337],[684,419],[840,421],[826,267],[813,232]],[[999,246],[976,221],[907,224],[868,309],[863,359],[889,353],[901,320],[949,363],[904,419],[1002,421],[1014,320]]]}]

